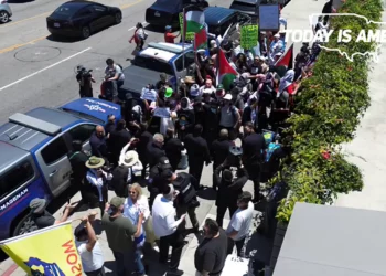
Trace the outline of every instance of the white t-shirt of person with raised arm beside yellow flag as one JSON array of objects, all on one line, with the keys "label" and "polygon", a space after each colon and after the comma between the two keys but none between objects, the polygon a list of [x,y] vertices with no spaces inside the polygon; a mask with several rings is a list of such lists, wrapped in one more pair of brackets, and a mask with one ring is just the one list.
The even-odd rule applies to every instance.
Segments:
[{"label": "white t-shirt of person with raised arm beside yellow flag", "polygon": [[82,258],[83,270],[90,273],[100,269],[105,264],[104,254],[100,248],[99,242],[96,242],[92,252],[87,251],[87,242],[76,241],[76,247]]}]

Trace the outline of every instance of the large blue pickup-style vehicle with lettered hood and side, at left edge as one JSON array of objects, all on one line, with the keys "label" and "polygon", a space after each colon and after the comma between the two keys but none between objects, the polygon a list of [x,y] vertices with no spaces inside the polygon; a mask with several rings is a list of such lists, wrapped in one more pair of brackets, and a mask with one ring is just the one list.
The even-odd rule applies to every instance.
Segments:
[{"label": "large blue pickup-style vehicle with lettered hood and side, at left edge", "polygon": [[90,135],[109,114],[120,119],[120,106],[81,98],[61,108],[14,114],[0,126],[0,240],[36,230],[30,201],[50,202],[71,185],[72,141],[81,140],[90,150]]}]

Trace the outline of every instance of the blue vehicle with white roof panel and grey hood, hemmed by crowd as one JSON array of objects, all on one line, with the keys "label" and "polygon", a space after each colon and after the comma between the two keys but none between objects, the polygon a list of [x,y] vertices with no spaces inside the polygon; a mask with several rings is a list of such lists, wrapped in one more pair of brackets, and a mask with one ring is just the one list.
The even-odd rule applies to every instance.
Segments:
[{"label": "blue vehicle with white roof panel and grey hood, hemmed by crowd", "polygon": [[179,79],[187,75],[192,64],[194,64],[192,44],[185,43],[183,46],[182,43],[151,42],[147,49],[138,53],[130,66],[124,68],[125,83],[120,87],[119,96],[126,99],[126,95],[130,94],[133,98],[139,98],[142,88],[148,84],[156,84],[161,73],[168,75],[169,82],[176,89]]}]

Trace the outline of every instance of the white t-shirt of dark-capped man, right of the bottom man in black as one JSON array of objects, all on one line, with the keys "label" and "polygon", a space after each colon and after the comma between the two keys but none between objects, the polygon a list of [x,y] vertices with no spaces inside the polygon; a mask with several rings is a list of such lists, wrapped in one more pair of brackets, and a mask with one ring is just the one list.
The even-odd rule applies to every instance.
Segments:
[{"label": "white t-shirt of dark-capped man, right of the bottom man in black", "polygon": [[247,209],[237,209],[233,214],[226,233],[229,234],[234,230],[238,231],[237,235],[234,237],[235,241],[244,238],[249,233],[254,209],[254,203],[249,202]]}]

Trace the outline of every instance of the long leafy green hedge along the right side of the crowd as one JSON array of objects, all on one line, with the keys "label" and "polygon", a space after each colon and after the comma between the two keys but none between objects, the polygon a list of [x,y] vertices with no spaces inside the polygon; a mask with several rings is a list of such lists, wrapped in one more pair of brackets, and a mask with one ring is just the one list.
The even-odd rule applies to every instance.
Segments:
[{"label": "long leafy green hedge along the right side of the crowd", "polygon": [[[356,13],[380,21],[380,0],[346,0],[340,13]],[[332,17],[333,30],[352,30],[356,38],[360,30],[376,30],[356,17]],[[349,54],[375,50],[375,43],[336,42],[337,32],[325,46],[340,49]],[[281,178],[291,189],[288,200],[280,203],[278,220],[290,220],[294,203],[332,203],[340,193],[361,191],[362,174],[341,153],[340,144],[354,138],[361,117],[369,106],[368,56],[349,61],[337,52],[322,50],[313,68],[312,77],[302,83],[297,97],[294,115],[290,123],[289,137],[292,153],[283,167]],[[330,157],[323,157],[330,152]]]}]

